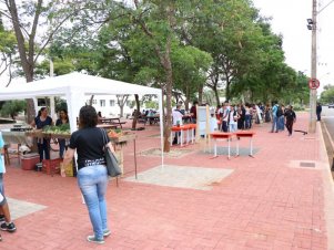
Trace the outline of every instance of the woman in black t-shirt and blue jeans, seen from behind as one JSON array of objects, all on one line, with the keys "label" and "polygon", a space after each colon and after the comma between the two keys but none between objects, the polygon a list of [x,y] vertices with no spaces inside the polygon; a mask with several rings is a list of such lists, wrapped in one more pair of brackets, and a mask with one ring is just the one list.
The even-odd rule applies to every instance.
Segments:
[{"label": "woman in black t-shirt and blue jeans, seen from behind", "polygon": [[[103,147],[105,145],[104,132],[97,127],[98,114],[94,107],[83,106],[79,114],[79,131],[70,138],[63,164],[70,164],[78,154],[78,185],[89,210],[93,236],[87,238],[90,242],[104,243],[104,237],[111,231],[108,228],[105,191],[108,175]],[[108,146],[113,147],[108,138]]]}]

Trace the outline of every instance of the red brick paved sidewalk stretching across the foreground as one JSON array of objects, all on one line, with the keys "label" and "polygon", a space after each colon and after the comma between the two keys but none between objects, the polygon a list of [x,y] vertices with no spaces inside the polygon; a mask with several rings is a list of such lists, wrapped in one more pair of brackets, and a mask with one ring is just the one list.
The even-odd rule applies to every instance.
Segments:
[{"label": "red brick paved sidewalk stretching across the foreground", "polygon": [[[295,129],[307,128],[298,114]],[[315,135],[269,133],[256,125],[255,158],[211,158],[199,145],[166,165],[233,169],[211,190],[120,181],[109,186],[108,212],[112,235],[105,244],[85,241],[91,233],[75,178],[23,171],[13,162],[6,175],[7,195],[45,206],[16,220],[16,233],[2,232],[1,250],[84,249],[330,249],[327,238],[333,185],[320,127]],[[159,147],[159,127],[138,132],[138,150]],[[235,142],[232,142],[234,145]],[[220,143],[224,145],[224,143]],[[241,147],[249,142],[241,139]],[[133,170],[132,144],[125,147],[125,171]],[[139,169],[161,164],[160,157],[139,155]],[[308,167],[300,167],[300,164]],[[310,167],[314,165],[314,167]],[[132,176],[129,173],[125,176]]]}]

